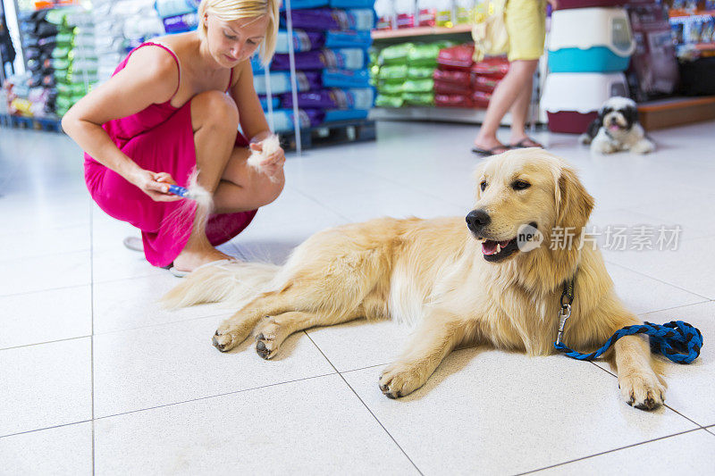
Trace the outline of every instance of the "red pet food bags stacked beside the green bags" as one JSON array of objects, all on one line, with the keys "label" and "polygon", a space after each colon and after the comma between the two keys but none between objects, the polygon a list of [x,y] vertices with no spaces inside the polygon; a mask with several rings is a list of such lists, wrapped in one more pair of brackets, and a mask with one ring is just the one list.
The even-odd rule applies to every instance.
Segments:
[{"label": "red pet food bags stacked beside the green bags", "polygon": [[439,68],[434,71],[434,103],[442,107],[486,109],[494,88],[509,71],[503,56],[473,61],[474,46],[458,45],[444,48],[437,57]]}]

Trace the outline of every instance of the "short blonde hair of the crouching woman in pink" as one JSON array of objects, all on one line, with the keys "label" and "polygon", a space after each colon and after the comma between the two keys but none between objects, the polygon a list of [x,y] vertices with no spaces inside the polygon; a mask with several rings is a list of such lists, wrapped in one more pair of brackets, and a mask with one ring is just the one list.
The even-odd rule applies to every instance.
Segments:
[{"label": "short blonde hair of the crouching woman in pink", "polygon": [[201,0],[198,5],[198,36],[206,39],[207,13],[216,15],[220,20],[232,21],[240,18],[257,18],[268,16],[268,27],[265,29],[265,38],[261,42],[258,54],[261,63],[268,64],[275,52],[275,43],[278,38],[278,7],[280,0]]}]

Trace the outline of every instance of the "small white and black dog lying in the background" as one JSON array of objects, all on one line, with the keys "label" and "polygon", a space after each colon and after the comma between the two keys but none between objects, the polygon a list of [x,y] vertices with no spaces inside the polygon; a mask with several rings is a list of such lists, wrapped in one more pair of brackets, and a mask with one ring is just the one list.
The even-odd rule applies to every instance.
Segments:
[{"label": "small white and black dog lying in the background", "polygon": [[598,119],[588,126],[588,131],[579,140],[582,144],[591,144],[591,150],[601,154],[621,150],[648,154],[655,150],[638,121],[635,101],[620,96],[611,97],[603,104]]}]

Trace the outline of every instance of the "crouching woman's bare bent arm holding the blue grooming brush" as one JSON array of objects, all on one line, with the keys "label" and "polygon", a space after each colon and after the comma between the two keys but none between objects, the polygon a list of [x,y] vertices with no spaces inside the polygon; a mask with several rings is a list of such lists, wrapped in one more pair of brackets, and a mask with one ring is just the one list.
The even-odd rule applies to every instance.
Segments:
[{"label": "crouching woman's bare bent arm holding the blue grooming brush", "polygon": [[[155,200],[179,199],[164,195],[168,174],[144,171],[114,145],[102,124],[129,116],[149,104],[168,101],[179,82],[172,56],[158,47],[145,46],[131,55],[126,67],[84,96],[63,116],[62,127],[97,162],[120,174]],[[162,179],[164,183],[156,180]]]}]

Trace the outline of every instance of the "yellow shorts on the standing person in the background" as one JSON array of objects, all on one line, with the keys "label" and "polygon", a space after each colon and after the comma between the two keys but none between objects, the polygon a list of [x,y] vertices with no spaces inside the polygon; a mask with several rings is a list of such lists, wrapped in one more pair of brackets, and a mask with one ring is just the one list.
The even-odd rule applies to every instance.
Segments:
[{"label": "yellow shorts on the standing person in the background", "polygon": [[546,38],[545,0],[507,0],[504,23],[509,34],[509,61],[538,60]]}]

